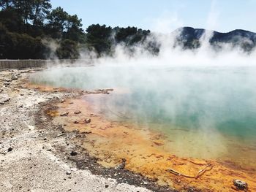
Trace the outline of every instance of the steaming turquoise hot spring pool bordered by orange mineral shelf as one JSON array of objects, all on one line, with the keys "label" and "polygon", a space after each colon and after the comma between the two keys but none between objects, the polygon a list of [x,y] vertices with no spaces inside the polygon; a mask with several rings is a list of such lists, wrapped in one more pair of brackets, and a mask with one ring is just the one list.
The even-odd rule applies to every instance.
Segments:
[{"label": "steaming turquoise hot spring pool bordered by orange mineral shelf", "polygon": [[31,82],[113,88],[84,96],[109,120],[165,134],[168,150],[256,167],[256,67],[99,64],[37,72]]}]

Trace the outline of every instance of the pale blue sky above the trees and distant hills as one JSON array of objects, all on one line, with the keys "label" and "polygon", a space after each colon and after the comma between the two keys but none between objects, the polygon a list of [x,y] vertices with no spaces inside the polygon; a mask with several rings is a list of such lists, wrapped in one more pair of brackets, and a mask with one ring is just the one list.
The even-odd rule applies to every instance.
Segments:
[{"label": "pale blue sky above the trees and distant hills", "polygon": [[168,32],[181,26],[220,32],[241,28],[256,32],[256,0],[51,0],[91,24]]}]

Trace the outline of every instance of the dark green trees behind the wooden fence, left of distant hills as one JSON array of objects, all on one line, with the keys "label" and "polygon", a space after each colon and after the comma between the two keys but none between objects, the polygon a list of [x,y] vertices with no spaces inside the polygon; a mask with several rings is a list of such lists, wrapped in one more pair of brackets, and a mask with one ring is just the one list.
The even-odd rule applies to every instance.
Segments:
[{"label": "dark green trees behind the wooden fence, left of distant hills", "polygon": [[52,9],[50,0],[0,0],[0,58],[78,58],[84,49],[110,55],[116,45],[132,47],[149,34],[135,27],[99,24],[83,31],[78,15]]}]

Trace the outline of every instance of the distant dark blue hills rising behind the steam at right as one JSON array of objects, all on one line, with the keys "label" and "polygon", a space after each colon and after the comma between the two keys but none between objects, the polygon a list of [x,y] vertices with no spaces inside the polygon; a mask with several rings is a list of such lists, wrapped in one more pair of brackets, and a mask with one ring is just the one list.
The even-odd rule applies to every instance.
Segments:
[{"label": "distant dark blue hills rising behind the steam at right", "polygon": [[176,29],[173,33],[178,32],[177,42],[184,48],[200,47],[200,39],[204,34],[211,34],[208,41],[216,48],[221,48],[223,43],[232,47],[241,47],[245,51],[251,51],[256,47],[256,33],[242,29],[236,29],[227,33],[210,31],[204,28],[182,27]]}]

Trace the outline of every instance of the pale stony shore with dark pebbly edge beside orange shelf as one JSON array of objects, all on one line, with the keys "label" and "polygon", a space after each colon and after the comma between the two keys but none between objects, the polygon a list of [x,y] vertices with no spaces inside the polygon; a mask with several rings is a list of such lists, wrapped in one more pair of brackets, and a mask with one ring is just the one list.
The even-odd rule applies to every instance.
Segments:
[{"label": "pale stony shore with dark pebbly edge beside orange shelf", "polygon": [[122,166],[97,164],[72,142],[86,135],[64,131],[45,115],[51,103],[80,92],[28,88],[31,72],[0,72],[0,191],[173,191]]}]

